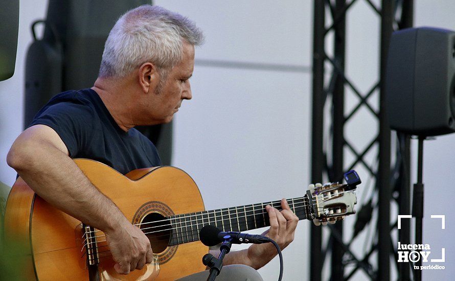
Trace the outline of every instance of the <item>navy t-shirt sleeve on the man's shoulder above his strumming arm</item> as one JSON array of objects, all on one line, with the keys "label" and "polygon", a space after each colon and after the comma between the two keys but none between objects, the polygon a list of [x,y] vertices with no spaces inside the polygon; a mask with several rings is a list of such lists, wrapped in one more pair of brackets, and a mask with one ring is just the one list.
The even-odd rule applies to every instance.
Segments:
[{"label": "navy t-shirt sleeve on the man's shoulder above his strumming arm", "polygon": [[76,157],[90,140],[93,116],[93,111],[87,106],[58,103],[41,110],[29,127],[38,124],[51,127],[63,140],[70,157]]}]

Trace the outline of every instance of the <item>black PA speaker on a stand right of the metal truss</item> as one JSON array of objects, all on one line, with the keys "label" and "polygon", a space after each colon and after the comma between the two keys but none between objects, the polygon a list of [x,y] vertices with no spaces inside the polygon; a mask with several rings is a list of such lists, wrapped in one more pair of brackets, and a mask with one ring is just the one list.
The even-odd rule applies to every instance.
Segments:
[{"label": "black PA speaker on a stand right of the metal truss", "polygon": [[392,129],[420,136],[455,132],[455,32],[394,32],[385,91]]}]

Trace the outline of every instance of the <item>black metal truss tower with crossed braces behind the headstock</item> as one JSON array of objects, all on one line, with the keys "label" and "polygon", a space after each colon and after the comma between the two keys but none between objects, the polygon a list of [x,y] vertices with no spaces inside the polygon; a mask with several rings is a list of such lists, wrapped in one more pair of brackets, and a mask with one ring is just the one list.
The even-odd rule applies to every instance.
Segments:
[{"label": "black metal truss tower with crossed braces behind the headstock", "polygon": [[[365,1],[374,13],[380,18],[380,69],[377,82],[371,85],[367,92],[361,92],[355,86],[355,81],[345,73],[346,61],[346,18],[347,12],[355,2]],[[358,270],[362,270],[372,280],[389,280],[391,265],[396,266],[400,280],[411,280],[409,264],[397,264],[391,261],[395,258],[391,232],[396,228],[396,222],[391,222],[391,203],[396,202],[400,214],[410,214],[410,136],[397,135],[397,154],[395,170],[391,171],[391,130],[385,108],[385,62],[388,55],[389,42],[394,30],[413,26],[413,0],[382,0],[381,7],[377,7],[372,0],[314,0],[314,27],[313,27],[313,80],[312,80],[312,154],[311,180],[312,182],[338,181],[343,172],[361,166],[368,171],[362,175],[363,179],[371,178],[375,182],[371,198],[367,198],[357,210],[357,222],[353,236],[343,237],[343,224],[329,225],[330,236],[323,241],[321,227],[311,227],[310,253],[310,280],[320,281],[322,272],[330,272],[330,280],[348,280]],[[327,11],[326,11],[327,9]],[[326,26],[326,19],[330,26]],[[325,51],[327,36],[333,32],[333,56]],[[329,46],[327,46],[329,47]],[[324,81],[325,75],[330,79]],[[358,97],[358,104],[348,112],[345,108],[345,90],[353,92]],[[379,90],[377,108],[371,105],[369,98]],[[331,123],[329,132],[324,130],[324,107],[331,100]],[[362,151],[358,151],[352,143],[344,137],[346,125],[360,108],[366,109],[378,124],[378,134],[371,137],[372,141]],[[361,129],[361,128],[359,128]],[[365,134],[372,134],[366,130]],[[323,149],[323,139],[331,136],[329,151]],[[371,167],[365,160],[366,155],[374,148],[377,149],[377,167]],[[345,165],[344,151],[350,151],[355,160]],[[330,154],[330,157],[327,156]],[[330,159],[329,159],[330,158]],[[372,200],[373,197],[376,200]],[[380,218],[373,225],[372,214]],[[372,233],[376,239],[371,245],[365,245],[365,255],[359,256],[351,249],[352,241],[370,223]],[[410,241],[410,223],[402,225],[399,232],[399,241]],[[344,241],[349,241],[346,243]],[[326,247],[323,247],[326,242]],[[330,253],[330,269],[324,270]],[[376,257],[376,262],[372,256]],[[346,268],[346,265],[351,268]],[[353,268],[352,268],[353,265]]]}]

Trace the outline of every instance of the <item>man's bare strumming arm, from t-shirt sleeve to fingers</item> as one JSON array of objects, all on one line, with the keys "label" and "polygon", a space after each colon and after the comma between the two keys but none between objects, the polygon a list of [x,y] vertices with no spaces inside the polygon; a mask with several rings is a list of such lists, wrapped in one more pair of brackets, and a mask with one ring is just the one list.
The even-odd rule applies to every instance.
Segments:
[{"label": "man's bare strumming arm, from t-shirt sleeve to fingers", "polygon": [[22,132],[7,162],[45,201],[105,232],[119,273],[152,261],[147,237],[85,177],[52,128],[35,125]]}]

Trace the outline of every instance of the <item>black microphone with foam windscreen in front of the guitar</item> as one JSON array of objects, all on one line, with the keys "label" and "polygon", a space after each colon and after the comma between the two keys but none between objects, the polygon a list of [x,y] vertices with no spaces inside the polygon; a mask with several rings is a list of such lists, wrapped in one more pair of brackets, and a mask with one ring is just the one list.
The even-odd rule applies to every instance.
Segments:
[{"label": "black microphone with foam windscreen in front of the guitar", "polygon": [[262,235],[253,235],[236,231],[224,232],[213,225],[206,225],[199,231],[199,239],[206,246],[215,246],[226,239],[232,239],[231,243],[243,244],[253,243],[262,244],[271,242],[271,239]]}]

